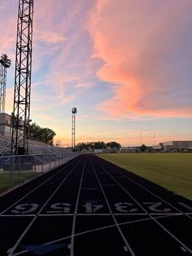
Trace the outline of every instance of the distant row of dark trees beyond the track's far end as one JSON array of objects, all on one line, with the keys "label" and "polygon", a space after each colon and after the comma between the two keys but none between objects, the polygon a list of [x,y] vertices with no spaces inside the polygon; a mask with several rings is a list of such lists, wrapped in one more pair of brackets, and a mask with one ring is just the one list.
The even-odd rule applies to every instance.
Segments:
[{"label": "distant row of dark trees beyond the track's far end", "polygon": [[120,143],[116,141],[111,141],[108,143],[104,143],[103,141],[96,141],[96,142],[86,142],[86,143],[78,143],[76,144],[76,148],[80,151],[82,150],[94,150],[94,149],[102,149],[102,148],[121,148]]}]

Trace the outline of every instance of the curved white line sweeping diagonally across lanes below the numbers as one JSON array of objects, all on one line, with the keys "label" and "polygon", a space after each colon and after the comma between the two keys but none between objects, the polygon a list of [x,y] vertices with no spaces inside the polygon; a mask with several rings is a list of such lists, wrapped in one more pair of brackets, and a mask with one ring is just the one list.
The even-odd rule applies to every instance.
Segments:
[{"label": "curved white line sweeping diagonally across lanes below the numbers", "polygon": [[[167,218],[167,217],[168,216],[158,216],[158,217],[155,217],[155,218]],[[151,218],[148,217],[148,218],[132,220],[132,221],[129,221],[129,222],[119,223],[119,226],[129,225],[129,224],[133,224],[133,223],[141,223],[141,222],[144,222],[144,221],[151,221]],[[76,233],[76,234],[74,234],[74,236],[83,236],[83,235],[86,235],[86,234],[89,234],[89,233],[92,233],[92,232],[98,232],[98,231],[105,230],[105,229],[112,228],[112,227],[116,227],[116,224],[111,224],[111,225],[104,226],[104,227],[94,228],[94,229],[91,229],[91,230],[88,230],[88,231],[85,231],[85,232]],[[55,243],[59,243],[61,241],[68,240],[70,238],[72,238],[72,236],[64,236],[62,238],[59,238],[58,240],[50,241],[50,242],[42,244],[42,245],[37,245],[33,249],[38,249],[38,248],[41,248],[42,246],[45,246],[45,245],[53,245]],[[25,250],[21,251],[20,253],[13,254],[12,256],[17,256],[17,255],[25,254],[27,252],[28,252],[28,250],[25,249]]]}]

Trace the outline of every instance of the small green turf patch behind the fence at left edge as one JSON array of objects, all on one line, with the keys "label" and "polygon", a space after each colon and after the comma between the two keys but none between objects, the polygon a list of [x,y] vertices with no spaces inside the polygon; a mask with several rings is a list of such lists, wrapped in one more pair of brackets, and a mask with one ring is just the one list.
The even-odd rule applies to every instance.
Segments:
[{"label": "small green turf patch behind the fence at left edge", "polygon": [[0,192],[12,188],[18,183],[24,183],[25,180],[31,179],[34,177],[33,172],[25,172],[19,174],[19,172],[15,172],[11,176],[10,172],[1,172],[0,173]]}]

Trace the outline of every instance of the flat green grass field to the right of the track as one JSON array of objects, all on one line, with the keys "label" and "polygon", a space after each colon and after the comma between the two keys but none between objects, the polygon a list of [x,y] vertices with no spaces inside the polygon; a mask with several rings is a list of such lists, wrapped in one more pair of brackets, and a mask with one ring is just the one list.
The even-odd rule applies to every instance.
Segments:
[{"label": "flat green grass field to the right of the track", "polygon": [[127,153],[98,156],[192,200],[191,153]]}]

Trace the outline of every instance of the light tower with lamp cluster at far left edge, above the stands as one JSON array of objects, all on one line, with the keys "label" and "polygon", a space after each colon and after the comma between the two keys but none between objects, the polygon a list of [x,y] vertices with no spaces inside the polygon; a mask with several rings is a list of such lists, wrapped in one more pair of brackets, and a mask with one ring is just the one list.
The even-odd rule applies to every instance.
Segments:
[{"label": "light tower with lamp cluster at far left edge, above the stands", "polygon": [[5,113],[7,68],[10,67],[11,60],[7,58],[7,55],[2,55],[0,59],[0,113]]}]

